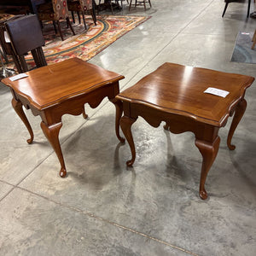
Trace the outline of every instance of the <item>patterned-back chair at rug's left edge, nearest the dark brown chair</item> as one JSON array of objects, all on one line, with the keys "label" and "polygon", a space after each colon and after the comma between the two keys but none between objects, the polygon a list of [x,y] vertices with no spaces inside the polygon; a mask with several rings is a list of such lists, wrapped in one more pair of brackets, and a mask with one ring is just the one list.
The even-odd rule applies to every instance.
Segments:
[{"label": "patterned-back chair at rug's left edge, nearest the dark brown chair", "polygon": [[70,23],[68,17],[68,9],[67,9],[67,1],[66,0],[51,0],[49,3],[43,3],[38,5],[38,19],[39,20],[52,20],[53,25],[55,27],[55,33],[57,33],[55,23],[58,26],[61,40],[63,41],[63,34],[61,31],[61,23],[60,20],[67,20],[67,26],[70,27],[73,35],[75,32],[73,31],[73,27]]}]

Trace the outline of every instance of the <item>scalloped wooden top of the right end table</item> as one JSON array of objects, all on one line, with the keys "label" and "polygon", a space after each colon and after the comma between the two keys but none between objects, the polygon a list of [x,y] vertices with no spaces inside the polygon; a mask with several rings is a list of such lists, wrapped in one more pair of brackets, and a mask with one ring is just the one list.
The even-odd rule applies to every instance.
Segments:
[{"label": "scalloped wooden top of the right end table", "polygon": [[[116,97],[124,102],[222,126],[253,80],[253,77],[236,73],[166,62]],[[225,98],[204,93],[209,87],[230,93]]]}]

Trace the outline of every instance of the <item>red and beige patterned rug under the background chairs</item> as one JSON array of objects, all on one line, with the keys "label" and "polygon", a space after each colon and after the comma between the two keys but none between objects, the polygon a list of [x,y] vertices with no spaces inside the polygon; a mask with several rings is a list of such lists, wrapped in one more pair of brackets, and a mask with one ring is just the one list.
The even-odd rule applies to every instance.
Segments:
[{"label": "red and beige patterned rug under the background chairs", "polygon": [[[76,20],[75,24],[72,23],[76,33],[75,36],[73,36],[70,28],[67,28],[67,23],[63,21],[61,27],[64,41],[61,41],[61,37],[55,34],[52,23],[44,23],[45,46],[43,49],[46,61],[48,64],[52,64],[73,57],[88,61],[126,32],[148,20],[148,18],[142,16],[99,15],[95,26],[91,16],[85,16],[89,29],[86,32],[83,20],[81,24]],[[32,55],[27,55],[26,60],[30,67],[34,66]],[[13,67],[13,65],[10,63],[8,66]]]}]

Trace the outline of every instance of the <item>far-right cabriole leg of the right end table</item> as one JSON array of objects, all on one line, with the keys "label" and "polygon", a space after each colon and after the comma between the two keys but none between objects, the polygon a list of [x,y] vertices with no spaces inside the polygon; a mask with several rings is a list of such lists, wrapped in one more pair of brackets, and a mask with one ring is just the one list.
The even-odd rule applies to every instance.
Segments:
[{"label": "far-right cabriole leg of the right end table", "polygon": [[230,150],[234,150],[236,148],[235,145],[231,145],[231,139],[232,139],[234,132],[236,131],[236,127],[239,124],[246,109],[247,109],[247,101],[245,99],[242,99],[242,101],[239,102],[238,105],[236,106],[236,112],[235,112],[234,118],[232,120],[232,123],[230,125],[230,131],[229,131],[229,135],[228,135],[228,139],[227,139],[227,144],[228,144],[228,147],[230,148]]}]

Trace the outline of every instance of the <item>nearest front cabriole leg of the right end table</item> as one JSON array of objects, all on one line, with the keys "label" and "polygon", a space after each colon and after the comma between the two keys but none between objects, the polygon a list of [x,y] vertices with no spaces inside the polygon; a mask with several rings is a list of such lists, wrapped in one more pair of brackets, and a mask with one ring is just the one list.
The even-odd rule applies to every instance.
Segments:
[{"label": "nearest front cabriole leg of the right end table", "polygon": [[195,139],[195,146],[201,152],[203,161],[201,166],[201,178],[200,178],[200,189],[199,195],[202,200],[207,199],[207,191],[205,189],[205,183],[207,180],[207,173],[209,172],[213,161],[215,160],[218,154],[220,138],[216,137],[213,143],[207,143],[206,141],[201,141]]}]

